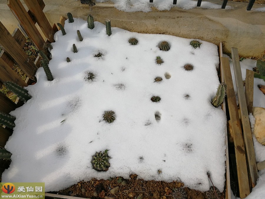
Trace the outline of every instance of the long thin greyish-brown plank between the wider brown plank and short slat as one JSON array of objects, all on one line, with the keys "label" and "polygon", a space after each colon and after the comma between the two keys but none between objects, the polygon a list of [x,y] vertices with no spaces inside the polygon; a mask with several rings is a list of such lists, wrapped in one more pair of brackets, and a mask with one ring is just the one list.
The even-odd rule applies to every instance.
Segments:
[{"label": "long thin greyish-brown plank between the wider brown plank and short slat", "polygon": [[238,56],[238,49],[231,48],[233,68],[236,78],[236,88],[238,94],[238,101],[241,111],[241,121],[243,126],[244,141],[246,145],[246,154],[248,158],[248,166],[251,177],[252,188],[255,187],[258,179],[258,170],[256,165],[256,156],[254,151],[254,145],[252,140],[251,127],[249,122],[249,113],[246,104],[245,92],[243,87],[242,73]]}]

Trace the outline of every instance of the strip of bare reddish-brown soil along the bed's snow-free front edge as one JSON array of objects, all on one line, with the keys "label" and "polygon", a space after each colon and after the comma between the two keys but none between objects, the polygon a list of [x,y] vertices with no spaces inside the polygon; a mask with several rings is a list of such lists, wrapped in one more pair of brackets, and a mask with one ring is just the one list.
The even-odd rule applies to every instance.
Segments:
[{"label": "strip of bare reddish-brown soil along the bed's snow-free front edge", "polygon": [[[113,193],[113,188],[119,186],[117,193]],[[82,198],[135,198],[135,199],[166,199],[173,198],[172,191],[174,188],[182,188],[184,184],[182,182],[163,182],[163,181],[145,181],[137,179],[137,175],[130,175],[129,180],[125,180],[122,177],[109,178],[108,180],[96,180],[95,178],[90,181],[78,182],[71,187],[61,190],[59,192],[50,192],[61,195],[71,195]],[[203,192],[192,190],[189,188],[183,188],[187,193],[188,199],[203,199],[206,198]],[[112,191],[111,191],[112,190]],[[111,193],[112,192],[112,193]],[[225,198],[225,193],[221,193],[221,198]]]}]

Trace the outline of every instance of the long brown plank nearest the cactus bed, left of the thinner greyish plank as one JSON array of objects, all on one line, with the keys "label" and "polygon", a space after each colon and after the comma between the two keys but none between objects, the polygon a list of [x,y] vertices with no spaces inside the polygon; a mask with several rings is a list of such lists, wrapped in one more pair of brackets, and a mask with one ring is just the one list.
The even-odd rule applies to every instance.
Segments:
[{"label": "long brown plank nearest the cactus bed, left of the thinner greyish plank", "polygon": [[240,198],[245,198],[250,193],[249,179],[246,165],[245,146],[237,110],[236,96],[229,65],[229,59],[227,57],[221,57],[221,64],[223,66],[224,71],[224,81],[227,85],[226,97],[228,102],[231,126],[233,130],[239,195]]}]

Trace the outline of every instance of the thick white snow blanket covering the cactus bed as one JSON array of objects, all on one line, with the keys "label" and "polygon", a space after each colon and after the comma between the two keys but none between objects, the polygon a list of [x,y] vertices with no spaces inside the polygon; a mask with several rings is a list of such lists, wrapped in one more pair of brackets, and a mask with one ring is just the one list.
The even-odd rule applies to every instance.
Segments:
[{"label": "thick white snow blanket covering the cactus bed", "polygon": [[[52,43],[49,67],[54,80],[48,81],[39,68],[37,83],[27,87],[32,99],[11,112],[16,127],[6,149],[12,162],[2,181],[45,182],[46,191],[55,191],[93,177],[129,178],[135,173],[145,180],[180,180],[206,191],[209,172],[223,191],[226,116],[211,105],[219,84],[217,46],[200,40],[201,47],[194,49],[191,39],[115,27],[108,36],[104,24],[95,22],[91,30],[75,18],[74,23],[66,21],[65,30]],[[128,43],[131,37],[138,45]],[[169,51],[158,48],[164,40]],[[77,53],[72,52],[74,43]],[[94,57],[98,52],[104,56]],[[157,65],[157,56],[164,63]],[[184,70],[186,63],[193,71]],[[94,81],[85,81],[88,72],[96,75]],[[160,83],[154,82],[157,76],[163,78]],[[189,99],[184,98],[187,94]],[[152,102],[154,95],[161,101]],[[103,114],[110,110],[116,120],[108,124]],[[97,172],[92,156],[105,149],[111,157],[109,170]]]}]

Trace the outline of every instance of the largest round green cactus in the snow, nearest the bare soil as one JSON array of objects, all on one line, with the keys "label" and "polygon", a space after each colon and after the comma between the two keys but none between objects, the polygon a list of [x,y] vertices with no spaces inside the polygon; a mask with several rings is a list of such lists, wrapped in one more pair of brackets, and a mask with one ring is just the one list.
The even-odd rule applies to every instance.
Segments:
[{"label": "largest round green cactus in the snow, nearest the bare soil", "polygon": [[108,156],[108,150],[96,152],[92,157],[93,169],[97,171],[107,171],[110,167],[110,157]]}]

